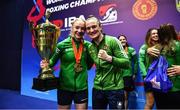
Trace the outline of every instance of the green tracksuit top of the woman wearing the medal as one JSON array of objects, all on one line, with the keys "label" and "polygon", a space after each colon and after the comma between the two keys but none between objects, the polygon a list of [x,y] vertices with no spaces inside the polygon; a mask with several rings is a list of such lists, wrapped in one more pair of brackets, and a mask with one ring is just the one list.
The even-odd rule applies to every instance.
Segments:
[{"label": "green tracksuit top of the woman wearing the medal", "polygon": [[[79,42],[76,40],[74,41],[78,48]],[[79,73],[74,71],[76,60],[71,36],[68,36],[68,38],[57,44],[56,50],[50,59],[50,67],[54,66],[58,60],[61,61],[58,89],[77,92],[88,88],[87,70],[91,67],[92,63],[88,58],[87,48],[91,43],[88,41],[84,41],[83,43],[84,49],[80,61],[83,70]]]}]

